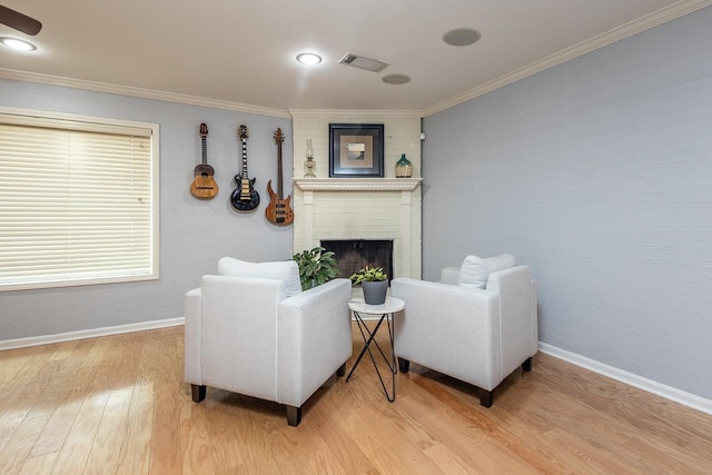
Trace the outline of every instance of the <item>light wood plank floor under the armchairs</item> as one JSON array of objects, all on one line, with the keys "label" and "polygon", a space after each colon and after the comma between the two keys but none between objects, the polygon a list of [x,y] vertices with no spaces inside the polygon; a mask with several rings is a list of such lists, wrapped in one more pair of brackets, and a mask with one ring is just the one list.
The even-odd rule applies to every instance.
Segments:
[{"label": "light wood plank floor under the armchairs", "polygon": [[182,355],[182,327],[0,352],[0,474],[712,474],[712,416],[542,354],[490,409],[417,365],[388,403],[364,360],[296,428],[224,390],[194,404]]}]

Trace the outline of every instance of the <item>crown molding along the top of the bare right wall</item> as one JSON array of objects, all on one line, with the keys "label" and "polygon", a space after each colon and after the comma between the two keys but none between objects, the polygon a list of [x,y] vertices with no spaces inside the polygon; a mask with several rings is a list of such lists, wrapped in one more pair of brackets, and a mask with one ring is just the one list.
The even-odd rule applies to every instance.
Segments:
[{"label": "crown molding along the top of the bare right wall", "polygon": [[445,109],[449,109],[451,107],[457,106],[462,102],[466,102],[476,97],[484,96],[488,92],[494,91],[495,89],[500,89],[504,86],[511,85],[512,82],[516,82],[521,79],[536,75],[537,72],[544,71],[548,68],[553,68],[554,66],[561,65],[562,62],[570,61],[587,52],[603,48],[605,46],[609,46],[622,39],[632,37],[633,34],[640,33],[641,31],[645,31],[651,28],[657,27],[659,24],[665,23],[668,21],[674,20],[676,18],[683,17],[689,13],[692,13],[702,8],[709,7],[711,4],[712,4],[712,0],[679,1],[676,3],[662,8],[660,10],[656,10],[639,19],[629,21],[627,23],[624,23],[620,27],[613,28],[606,31],[605,33],[590,38],[570,48],[566,48],[558,52],[550,55],[528,66],[525,66],[520,69],[515,69],[514,71],[507,75],[501,76],[500,78],[485,82],[474,89],[463,92],[462,95],[457,95],[451,99],[437,102],[431,107],[426,107],[425,109],[423,109],[423,117],[432,116]]}]

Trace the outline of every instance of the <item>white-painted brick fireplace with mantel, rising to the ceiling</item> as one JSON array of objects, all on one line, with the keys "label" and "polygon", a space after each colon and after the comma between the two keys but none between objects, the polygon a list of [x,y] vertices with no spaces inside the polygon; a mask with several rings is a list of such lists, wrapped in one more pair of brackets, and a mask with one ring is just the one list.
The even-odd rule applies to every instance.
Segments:
[{"label": "white-painted brick fireplace with mantel, rising to the ceiling", "polygon": [[[393,240],[393,276],[422,275],[421,117],[413,111],[290,110],[294,133],[294,251],[323,239]],[[385,178],[329,178],[329,123],[383,123]],[[317,178],[301,178],[306,140]],[[413,178],[395,178],[406,154]],[[348,277],[348,276],[345,276]]]}]

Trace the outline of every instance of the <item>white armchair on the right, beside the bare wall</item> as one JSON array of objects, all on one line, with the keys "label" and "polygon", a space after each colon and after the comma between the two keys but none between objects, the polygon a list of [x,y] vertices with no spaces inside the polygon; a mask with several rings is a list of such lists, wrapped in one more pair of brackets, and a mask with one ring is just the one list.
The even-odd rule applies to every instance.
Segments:
[{"label": "white armchair on the right, beside the bare wall", "polygon": [[536,281],[526,266],[488,275],[486,289],[457,285],[458,268],[441,283],[392,281],[405,310],[395,319],[395,354],[407,373],[414,362],[478,388],[492,406],[494,388],[518,366],[532,369],[538,346]]}]

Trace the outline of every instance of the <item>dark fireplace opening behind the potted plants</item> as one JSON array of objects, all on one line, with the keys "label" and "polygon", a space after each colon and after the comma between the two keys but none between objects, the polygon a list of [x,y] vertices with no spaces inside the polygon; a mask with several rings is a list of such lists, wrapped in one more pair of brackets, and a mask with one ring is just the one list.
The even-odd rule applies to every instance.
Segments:
[{"label": "dark fireplace opening behind the potted plants", "polygon": [[350,277],[364,267],[383,267],[393,279],[393,239],[329,239],[322,247],[334,253],[339,277]]}]

